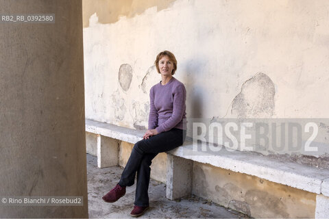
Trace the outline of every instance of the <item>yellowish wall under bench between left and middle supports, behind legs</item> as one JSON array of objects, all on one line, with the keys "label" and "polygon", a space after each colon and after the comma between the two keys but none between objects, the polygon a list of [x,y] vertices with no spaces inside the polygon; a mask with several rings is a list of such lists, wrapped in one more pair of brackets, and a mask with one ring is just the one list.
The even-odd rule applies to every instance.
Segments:
[{"label": "yellowish wall under bench between left and middle supports, behind legs", "polygon": [[[119,146],[119,165],[125,166],[130,157],[130,153],[132,153],[132,147],[134,144],[130,144],[127,142],[121,142]],[[166,183],[167,181],[167,154],[159,153],[154,157],[151,164],[151,178],[162,183]]]}]

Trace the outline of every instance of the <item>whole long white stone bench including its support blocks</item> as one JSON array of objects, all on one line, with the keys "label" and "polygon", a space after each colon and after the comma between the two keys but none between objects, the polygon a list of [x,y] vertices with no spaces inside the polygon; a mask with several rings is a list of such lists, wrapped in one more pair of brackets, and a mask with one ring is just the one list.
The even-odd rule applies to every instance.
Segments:
[{"label": "whole long white stone bench including its support blocks", "polygon": [[[86,120],[86,131],[97,134],[99,168],[118,164],[119,146],[116,140],[135,144],[143,139],[145,133],[93,120]],[[329,170],[282,162],[252,152],[221,150],[216,155],[202,152],[195,154],[190,140],[167,153],[167,198],[173,200],[191,194],[193,162],[210,164],[315,193],[315,218],[329,216]]]}]

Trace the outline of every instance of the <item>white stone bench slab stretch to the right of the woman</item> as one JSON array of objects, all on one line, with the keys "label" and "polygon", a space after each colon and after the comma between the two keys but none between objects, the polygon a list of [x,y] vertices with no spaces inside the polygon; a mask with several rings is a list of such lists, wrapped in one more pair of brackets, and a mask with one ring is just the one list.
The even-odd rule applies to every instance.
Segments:
[{"label": "white stone bench slab stretch to the right of the woman", "polygon": [[[222,149],[216,155],[188,155],[193,151],[192,142],[170,151],[172,155],[192,159],[195,162],[211,164],[226,170],[253,175],[275,183],[289,185],[293,188],[321,194],[321,185],[327,185],[329,190],[329,170],[320,170],[310,166],[292,162],[281,162],[263,155],[250,152],[226,151]],[[202,152],[199,152],[202,154]],[[328,194],[329,191],[326,192]]]}]

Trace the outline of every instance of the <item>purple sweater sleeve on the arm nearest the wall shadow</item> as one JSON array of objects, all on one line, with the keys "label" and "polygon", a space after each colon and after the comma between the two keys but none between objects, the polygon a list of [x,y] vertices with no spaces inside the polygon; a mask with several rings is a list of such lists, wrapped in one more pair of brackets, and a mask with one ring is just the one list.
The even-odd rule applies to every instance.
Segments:
[{"label": "purple sweater sleeve on the arm nearest the wall shadow", "polygon": [[186,90],[184,85],[180,84],[173,91],[173,114],[167,121],[162,123],[159,127],[156,127],[156,131],[158,131],[158,133],[169,131],[180,123],[185,112],[185,101]]}]

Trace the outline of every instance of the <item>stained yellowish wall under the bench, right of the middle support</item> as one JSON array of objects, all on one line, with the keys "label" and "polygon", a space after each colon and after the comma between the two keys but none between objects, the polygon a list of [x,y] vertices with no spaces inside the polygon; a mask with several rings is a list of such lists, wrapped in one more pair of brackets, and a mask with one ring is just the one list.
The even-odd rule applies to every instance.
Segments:
[{"label": "stained yellowish wall under the bench, right of the middle support", "polygon": [[254,218],[315,216],[316,194],[208,164],[193,164],[192,192]]}]

